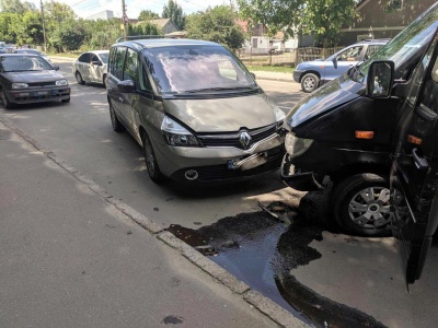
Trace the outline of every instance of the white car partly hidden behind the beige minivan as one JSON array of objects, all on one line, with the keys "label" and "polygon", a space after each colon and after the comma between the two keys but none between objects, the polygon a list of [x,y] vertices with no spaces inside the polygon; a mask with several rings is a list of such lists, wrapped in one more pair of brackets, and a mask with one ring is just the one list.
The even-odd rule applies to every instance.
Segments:
[{"label": "white car partly hidden behind the beige minivan", "polygon": [[94,50],[81,54],[73,61],[72,71],[79,84],[85,82],[106,85],[110,50]]}]

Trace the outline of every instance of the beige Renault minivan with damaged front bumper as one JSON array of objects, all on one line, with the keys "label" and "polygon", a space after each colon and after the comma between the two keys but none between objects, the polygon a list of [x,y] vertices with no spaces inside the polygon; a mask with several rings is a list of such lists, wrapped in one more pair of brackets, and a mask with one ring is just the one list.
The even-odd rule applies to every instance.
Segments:
[{"label": "beige Renault minivan with damaged front bumper", "polygon": [[110,52],[113,129],[142,145],[150,178],[205,183],[278,169],[285,113],[219,44],[120,40]]}]

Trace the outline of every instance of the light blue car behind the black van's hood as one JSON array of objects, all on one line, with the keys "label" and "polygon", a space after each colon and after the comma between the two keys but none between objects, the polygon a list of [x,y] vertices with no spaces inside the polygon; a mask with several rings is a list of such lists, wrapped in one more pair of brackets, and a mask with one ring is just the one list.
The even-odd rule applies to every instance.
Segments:
[{"label": "light blue car behind the black van's hood", "polygon": [[301,83],[302,91],[312,92],[341,77],[358,62],[367,60],[387,43],[388,39],[366,39],[348,46],[326,59],[301,62],[293,71],[293,80]]}]

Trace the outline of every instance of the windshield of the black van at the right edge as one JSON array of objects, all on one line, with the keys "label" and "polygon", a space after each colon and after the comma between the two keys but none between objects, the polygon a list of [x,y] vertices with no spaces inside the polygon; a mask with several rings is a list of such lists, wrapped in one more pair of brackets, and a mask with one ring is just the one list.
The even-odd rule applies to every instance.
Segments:
[{"label": "windshield of the black van at the right edge", "polygon": [[[380,48],[366,63],[360,67],[364,77],[373,60],[392,60],[395,65],[395,79],[407,79],[417,60],[423,55],[418,51],[430,42],[438,27],[438,3],[422,14],[390,43]],[[423,49],[425,50],[425,49]]]}]

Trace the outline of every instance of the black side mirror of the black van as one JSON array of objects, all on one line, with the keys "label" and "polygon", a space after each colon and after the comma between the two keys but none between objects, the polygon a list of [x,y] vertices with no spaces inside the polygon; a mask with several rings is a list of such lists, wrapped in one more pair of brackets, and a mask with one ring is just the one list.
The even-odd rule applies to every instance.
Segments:
[{"label": "black side mirror of the black van", "polygon": [[394,62],[377,60],[368,69],[367,95],[372,98],[391,96],[394,85]]}]

